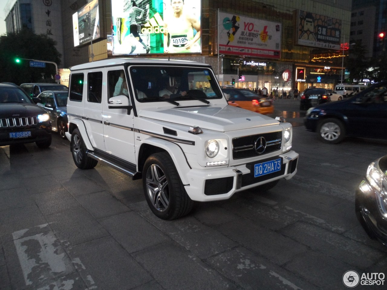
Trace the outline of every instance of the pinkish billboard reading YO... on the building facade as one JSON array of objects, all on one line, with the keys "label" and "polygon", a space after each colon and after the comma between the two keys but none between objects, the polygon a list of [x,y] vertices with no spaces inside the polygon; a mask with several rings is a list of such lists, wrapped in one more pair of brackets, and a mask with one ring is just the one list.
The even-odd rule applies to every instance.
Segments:
[{"label": "pinkish billboard reading YO... on the building facade", "polygon": [[281,23],[219,12],[219,53],[279,59]]}]

